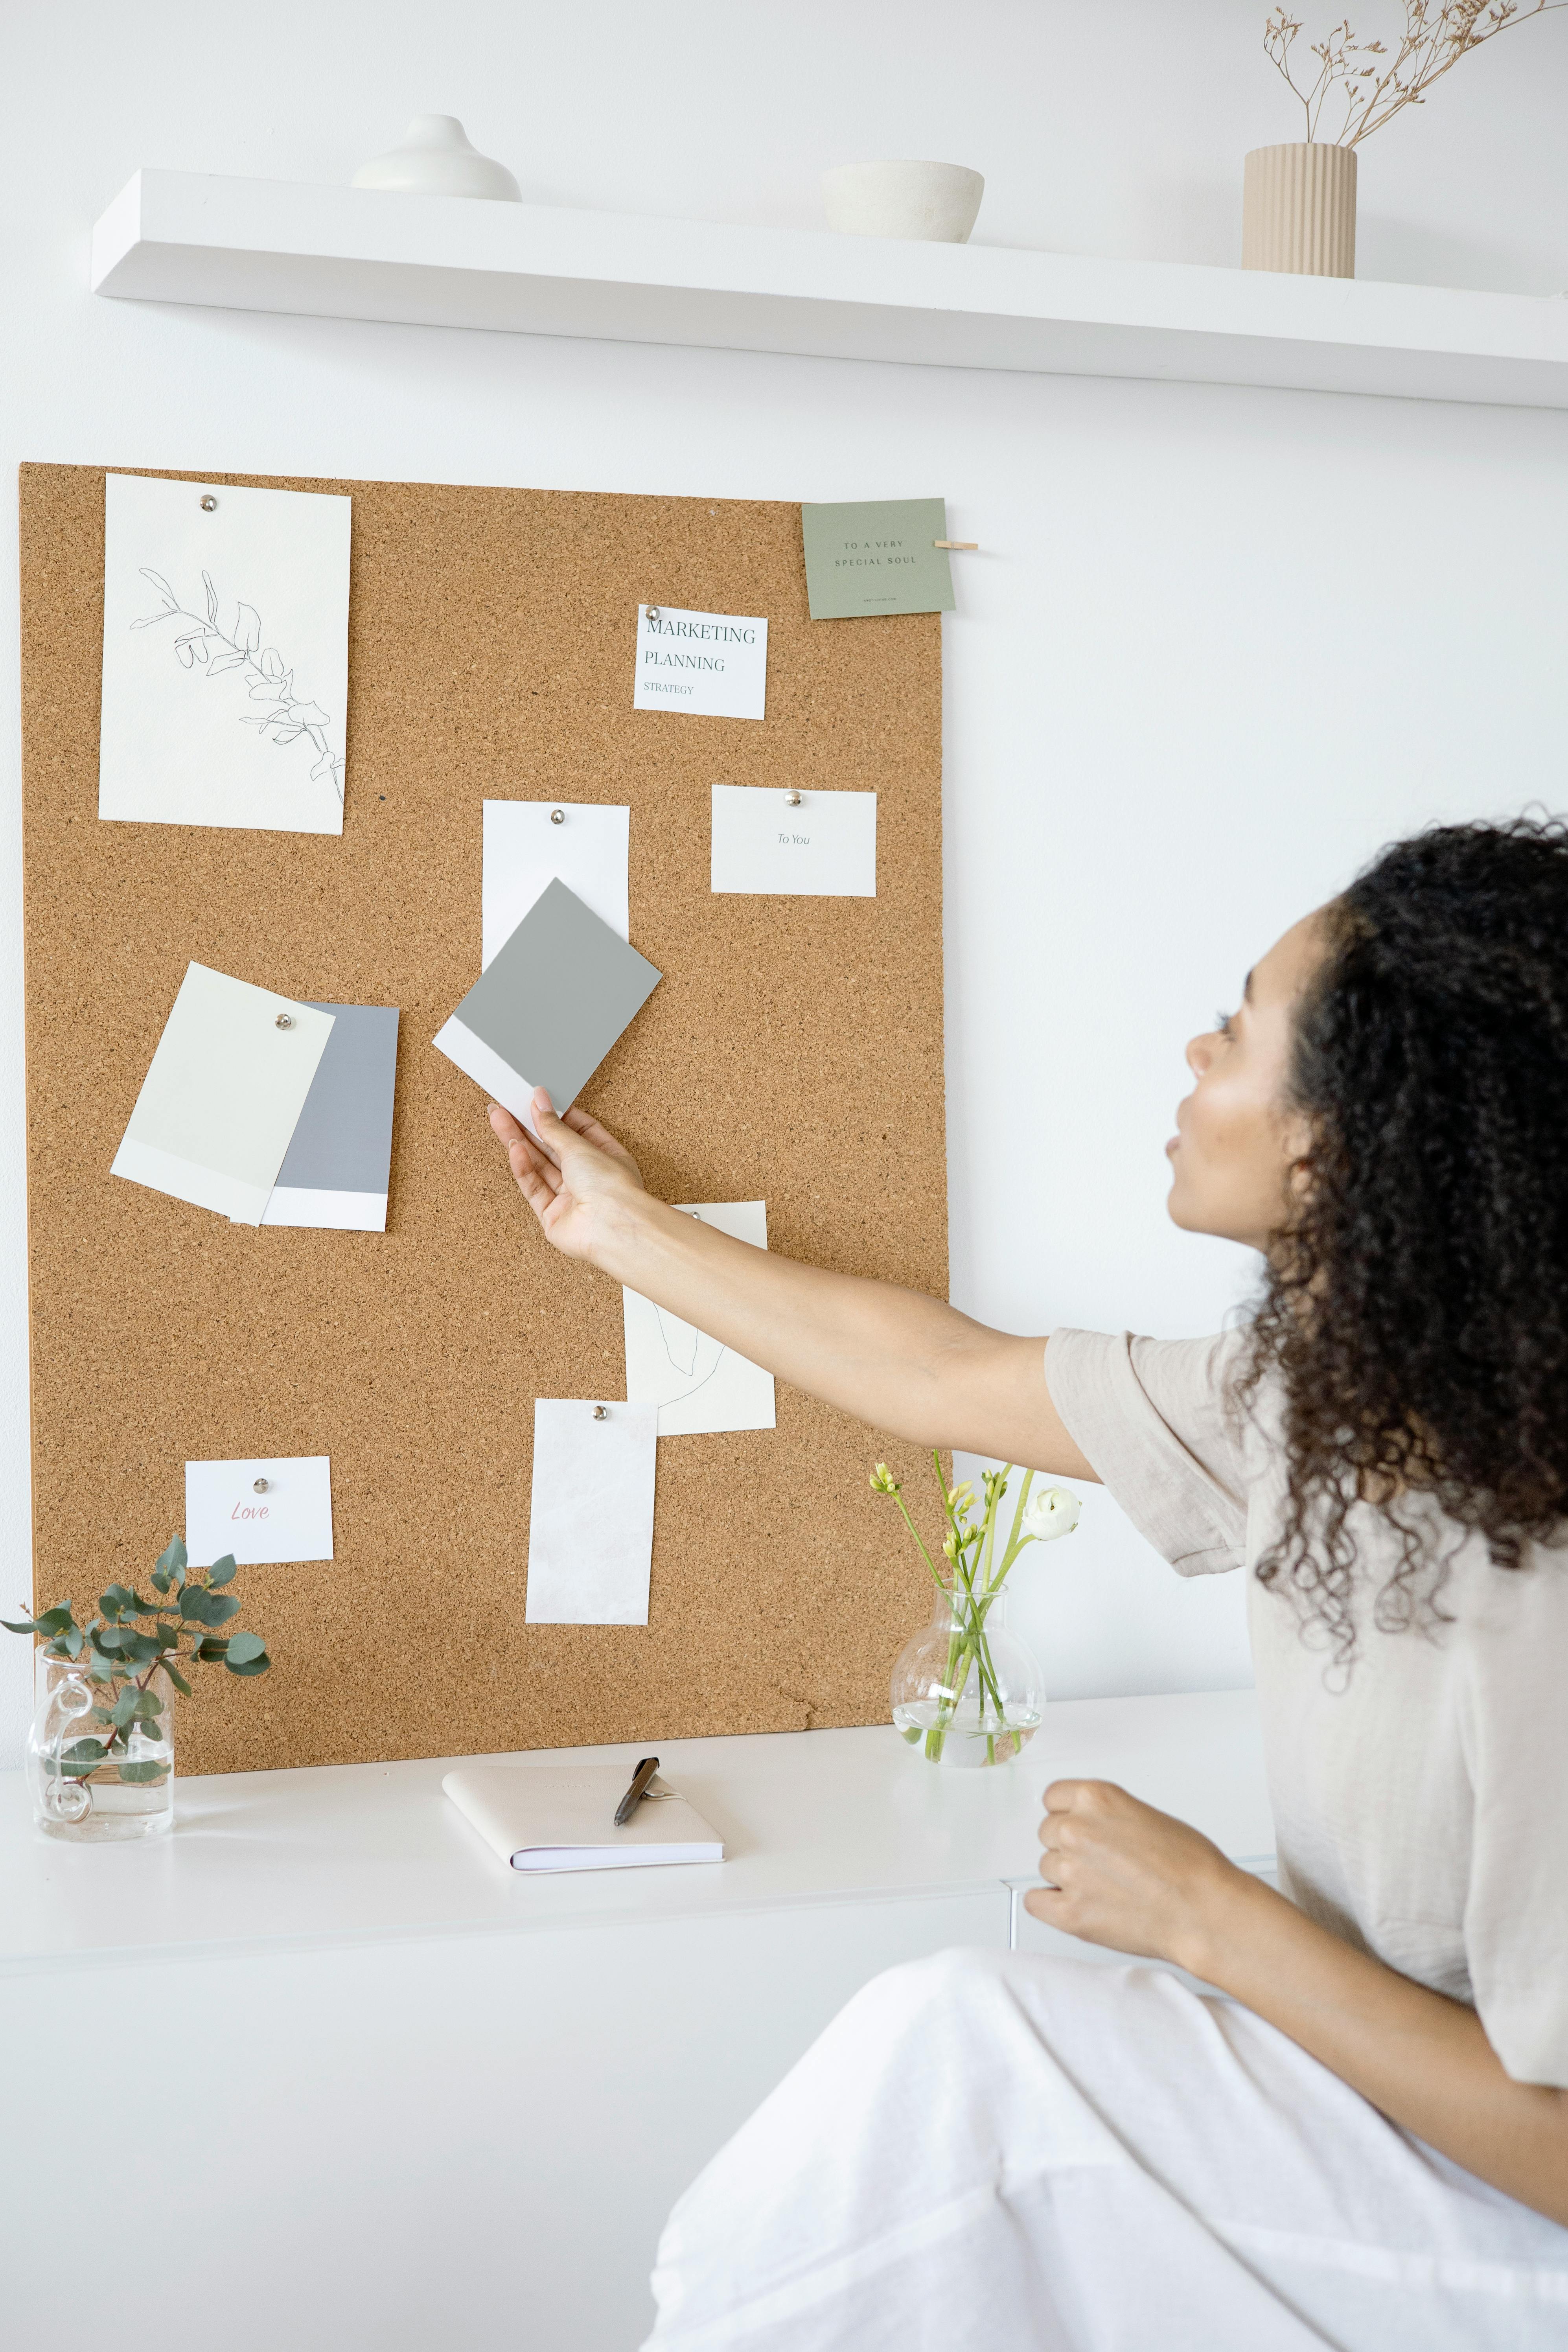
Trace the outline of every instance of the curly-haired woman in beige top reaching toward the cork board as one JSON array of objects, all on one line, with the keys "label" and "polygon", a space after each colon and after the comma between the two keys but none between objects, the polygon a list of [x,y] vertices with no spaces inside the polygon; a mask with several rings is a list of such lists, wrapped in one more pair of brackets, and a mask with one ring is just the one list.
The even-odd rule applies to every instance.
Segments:
[{"label": "curly-haired woman in beige top reaching toward the cork board", "polygon": [[[1387,849],[1187,1047],[1251,1329],[987,1331],[677,1216],[538,1098],[548,1240],[860,1418],[1244,1566],[1284,1893],[1046,1790],[1053,1926],[867,1985],[675,2209],[658,2347],[1568,2345],[1568,826]],[[1044,1374],[1041,1374],[1044,1367]]]}]

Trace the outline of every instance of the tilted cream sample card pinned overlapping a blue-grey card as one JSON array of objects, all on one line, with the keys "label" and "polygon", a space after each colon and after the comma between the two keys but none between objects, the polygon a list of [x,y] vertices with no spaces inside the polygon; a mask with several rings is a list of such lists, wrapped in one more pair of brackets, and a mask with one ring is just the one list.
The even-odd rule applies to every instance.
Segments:
[{"label": "tilted cream sample card pinned overlapping a blue-grey card", "polygon": [[186,964],[113,1174],[259,1225],[331,1014]]}]

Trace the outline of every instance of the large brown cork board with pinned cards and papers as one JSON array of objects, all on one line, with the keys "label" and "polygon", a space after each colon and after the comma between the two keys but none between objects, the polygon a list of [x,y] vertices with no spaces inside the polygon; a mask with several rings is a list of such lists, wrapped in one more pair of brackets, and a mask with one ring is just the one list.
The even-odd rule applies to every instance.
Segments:
[{"label": "large brown cork board with pinned cards and papers", "polygon": [[[931,1470],[785,1383],[773,1432],[661,1439],[646,1628],[524,1625],[534,1397],[625,1392],[621,1291],[430,1037],[484,797],[630,802],[665,978],[583,1101],[665,1200],[945,1296],[940,621],[811,623],[797,506],[273,487],[355,501],[341,840],[99,823],[103,468],[21,468],[35,1604],[146,1590],[186,1458],[329,1454],[336,1562],[242,1571],[275,1665],[197,1675],[181,1771],[884,1722],[926,1571],[865,1475]],[[632,713],[637,602],[766,614],[766,722]],[[877,790],[877,898],[712,896],[712,783]],[[193,957],[402,1007],[386,1235],[108,1174]]]}]

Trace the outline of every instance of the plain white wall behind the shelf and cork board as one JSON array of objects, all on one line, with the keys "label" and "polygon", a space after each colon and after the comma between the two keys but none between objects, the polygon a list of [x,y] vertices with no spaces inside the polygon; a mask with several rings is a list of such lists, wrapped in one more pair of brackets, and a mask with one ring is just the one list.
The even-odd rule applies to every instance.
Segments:
[{"label": "plain white wall behind the shelf and cork board", "polygon": [[[980,242],[1229,263],[1244,148],[1298,132],[1262,14],[73,0],[7,24],[7,463],[947,494],[985,548],[945,654],[952,1296],[1013,1329],[1213,1327],[1246,1265],[1164,1221],[1182,1040],[1392,833],[1568,797],[1568,419],[106,303],[87,230],[141,162],[343,179],[442,108],[548,202],[813,223],[823,165],[947,155],[987,174]],[[1361,273],[1568,285],[1566,94],[1552,19],[1382,132]],[[21,1592],[14,564],[2,581],[0,1552]],[[1237,1581],[1180,1585],[1105,1496],[1030,1578],[1058,1696],[1246,1679]],[[0,1675],[14,1740],[21,1642]]]}]

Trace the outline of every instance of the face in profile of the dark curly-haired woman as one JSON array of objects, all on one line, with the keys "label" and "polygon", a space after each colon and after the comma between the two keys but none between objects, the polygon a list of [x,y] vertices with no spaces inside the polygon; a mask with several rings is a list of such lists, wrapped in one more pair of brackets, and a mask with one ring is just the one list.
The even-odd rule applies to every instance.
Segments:
[{"label": "face in profile of the dark curly-haired woman", "polygon": [[1295,1004],[1324,957],[1324,917],[1305,915],[1253,964],[1234,1014],[1194,1037],[1197,1087],[1175,1112],[1173,1223],[1267,1249],[1286,1218],[1309,1127],[1286,1108]]}]

